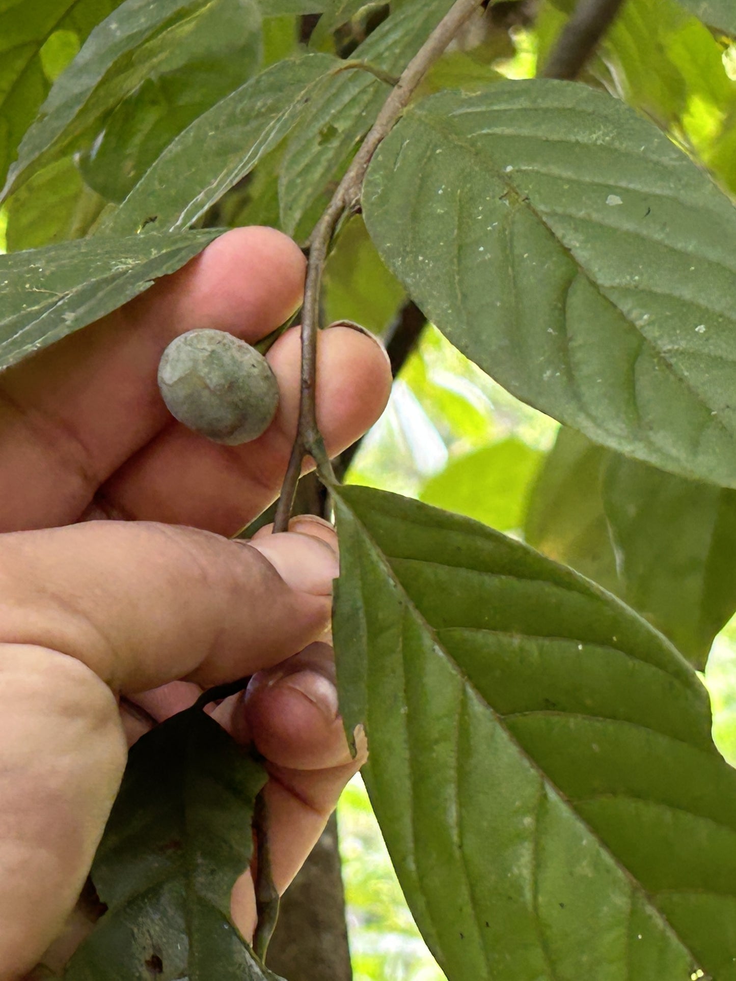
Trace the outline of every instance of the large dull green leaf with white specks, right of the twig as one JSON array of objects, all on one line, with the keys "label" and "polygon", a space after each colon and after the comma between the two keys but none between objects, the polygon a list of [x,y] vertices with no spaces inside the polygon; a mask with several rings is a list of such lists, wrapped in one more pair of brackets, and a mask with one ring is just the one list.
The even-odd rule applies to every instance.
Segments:
[{"label": "large dull green leaf with white specks, right of the twig", "polygon": [[363,189],[428,318],[516,397],[665,470],[736,487],[736,211],[587,86],[410,107]]}]

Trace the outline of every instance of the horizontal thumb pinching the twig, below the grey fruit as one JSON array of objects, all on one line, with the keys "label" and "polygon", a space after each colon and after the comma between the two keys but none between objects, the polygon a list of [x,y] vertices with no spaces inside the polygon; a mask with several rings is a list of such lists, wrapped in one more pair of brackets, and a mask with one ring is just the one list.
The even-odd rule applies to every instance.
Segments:
[{"label": "horizontal thumb pinching the twig, below the grey fruit", "polygon": [[123,694],[206,687],[318,638],[337,574],[335,543],[309,534],[245,544],[107,521],[8,535],[0,642],[69,654]]}]

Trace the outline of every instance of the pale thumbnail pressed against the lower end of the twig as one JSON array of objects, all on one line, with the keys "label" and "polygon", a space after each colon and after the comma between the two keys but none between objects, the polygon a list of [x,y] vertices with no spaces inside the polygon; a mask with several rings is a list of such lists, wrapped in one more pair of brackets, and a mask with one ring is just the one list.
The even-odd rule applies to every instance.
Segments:
[{"label": "pale thumbnail pressed against the lower end of the twig", "polygon": [[333,580],[340,575],[340,562],[335,549],[313,535],[282,532],[249,543],[256,548],[282,577],[299,593],[329,596]]}]

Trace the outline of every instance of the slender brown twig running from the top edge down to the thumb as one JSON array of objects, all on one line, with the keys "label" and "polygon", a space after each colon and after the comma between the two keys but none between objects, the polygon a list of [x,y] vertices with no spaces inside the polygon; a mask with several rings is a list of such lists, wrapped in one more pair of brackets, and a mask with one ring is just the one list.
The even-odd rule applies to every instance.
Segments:
[{"label": "slender brown twig running from the top edge down to the thumb", "polygon": [[427,71],[445,51],[459,28],[479,7],[480,0],[455,0],[447,15],[435,27],[406,66],[311,234],[301,321],[299,422],[281,499],[276,510],[275,532],[285,532],[289,528],[289,516],[296,492],[296,483],[301,474],[305,456],[312,456],[317,465],[318,473],[325,481],[328,483],[335,481],[335,475],[317,426],[315,409],[320,286],[330,241],[342,215],[345,212],[355,210],[357,207],[365,173],[381,141],[394,128],[394,124],[408,105],[409,99]]}]

